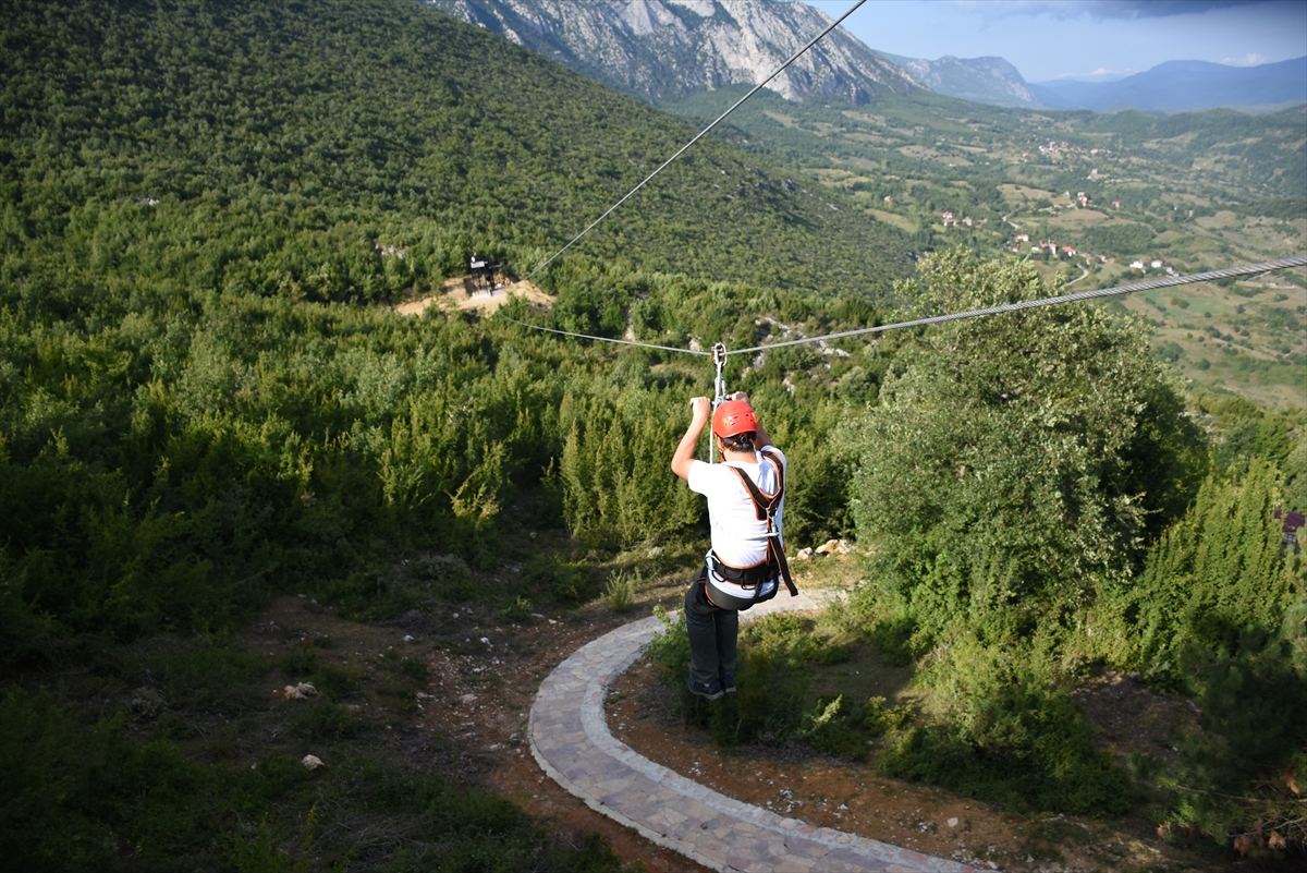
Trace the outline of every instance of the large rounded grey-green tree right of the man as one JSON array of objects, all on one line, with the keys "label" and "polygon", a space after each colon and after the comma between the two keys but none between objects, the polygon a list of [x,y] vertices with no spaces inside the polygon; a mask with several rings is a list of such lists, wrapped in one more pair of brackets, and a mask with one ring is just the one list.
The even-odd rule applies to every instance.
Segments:
[{"label": "large rounded grey-green tree right of the man", "polygon": [[[949,312],[1050,291],[1029,265],[958,251],[901,293]],[[1029,635],[1078,612],[1183,511],[1199,456],[1146,328],[1086,306],[925,333],[853,439],[859,535],[923,642],[959,619]]]}]

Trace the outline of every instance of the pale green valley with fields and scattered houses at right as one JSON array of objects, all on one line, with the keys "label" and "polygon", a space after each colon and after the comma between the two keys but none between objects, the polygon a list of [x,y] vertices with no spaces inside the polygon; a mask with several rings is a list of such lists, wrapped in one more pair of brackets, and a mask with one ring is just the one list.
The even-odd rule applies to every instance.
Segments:
[{"label": "pale green valley with fields and scattered houses at right", "polygon": [[[714,118],[733,98],[728,89],[701,91],[668,108]],[[868,214],[911,234],[919,251],[963,243],[1033,257],[1072,290],[1307,251],[1304,122],[1302,110],[1153,118],[937,94],[860,108],[767,95],[732,116],[736,142],[851,192]],[[1187,379],[1300,406],[1304,289],[1307,276],[1280,273],[1136,295],[1124,306],[1154,323],[1158,354]]]}]

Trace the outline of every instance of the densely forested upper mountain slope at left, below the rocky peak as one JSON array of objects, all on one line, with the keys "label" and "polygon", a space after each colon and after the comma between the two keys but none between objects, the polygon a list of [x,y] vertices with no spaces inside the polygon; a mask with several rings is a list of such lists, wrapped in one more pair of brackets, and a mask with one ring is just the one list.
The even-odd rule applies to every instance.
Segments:
[{"label": "densely forested upper mountain slope at left, below the rocky peak", "polygon": [[[427,240],[440,272],[477,246],[529,269],[693,135],[431,10],[359,4],[344,34],[324,24],[329,9],[10,7],[3,179],[25,180],[27,204],[10,233],[59,233],[65,204],[218,210],[247,242],[203,256],[216,286],[379,299],[401,290],[365,276],[379,237]],[[580,251],[704,278],[884,290],[908,268],[899,235],[846,203],[706,142]],[[349,243],[328,243],[348,222]],[[314,288],[315,268],[288,250],[295,235],[331,250],[341,281]]]}]

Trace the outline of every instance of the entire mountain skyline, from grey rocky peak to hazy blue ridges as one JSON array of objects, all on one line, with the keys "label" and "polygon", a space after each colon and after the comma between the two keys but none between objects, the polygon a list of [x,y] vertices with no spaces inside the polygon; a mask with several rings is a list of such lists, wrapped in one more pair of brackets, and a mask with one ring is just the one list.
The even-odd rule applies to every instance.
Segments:
[{"label": "entire mountain skyline, from grey rocky peak to hazy blue ridges", "polygon": [[[757,84],[831,21],[804,3],[759,0],[423,1],[650,103]],[[1307,101],[1307,58],[1261,67],[1174,60],[1114,82],[1031,84],[1002,58],[904,58],[840,29],[769,88],[796,102],[855,105],[925,88],[1026,108],[1269,108]]]}]

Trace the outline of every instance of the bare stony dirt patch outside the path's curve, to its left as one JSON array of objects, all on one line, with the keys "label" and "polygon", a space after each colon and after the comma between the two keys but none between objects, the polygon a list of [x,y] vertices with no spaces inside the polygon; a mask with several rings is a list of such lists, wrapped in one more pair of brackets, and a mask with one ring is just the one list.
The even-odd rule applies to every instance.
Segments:
[{"label": "bare stony dirt patch outside the path's curve, to its left", "polygon": [[[644,597],[661,593],[655,588]],[[680,589],[668,587],[665,593],[670,605]],[[631,618],[630,613],[617,616],[591,605],[506,623],[484,608],[439,605],[405,613],[392,623],[367,625],[290,596],[260,613],[239,639],[247,651],[277,657],[288,650],[312,647],[319,665],[359,676],[358,690],[342,703],[359,717],[388,725],[384,738],[372,741],[375,753],[508,797],[574,844],[593,831],[626,863],[643,861],[650,870],[669,873],[702,870],[559,788],[545,776],[527,744],[527,720],[540,681],[576,648]],[[314,646],[314,640],[329,644]],[[405,699],[380,690],[384,680],[375,664],[392,652],[425,661],[430,677],[423,690]],[[288,673],[284,682],[303,678]],[[285,699],[282,681],[269,682],[267,693],[274,710],[289,712],[302,706]],[[324,745],[307,744],[295,754],[318,754],[331,766],[331,749]]]}]

